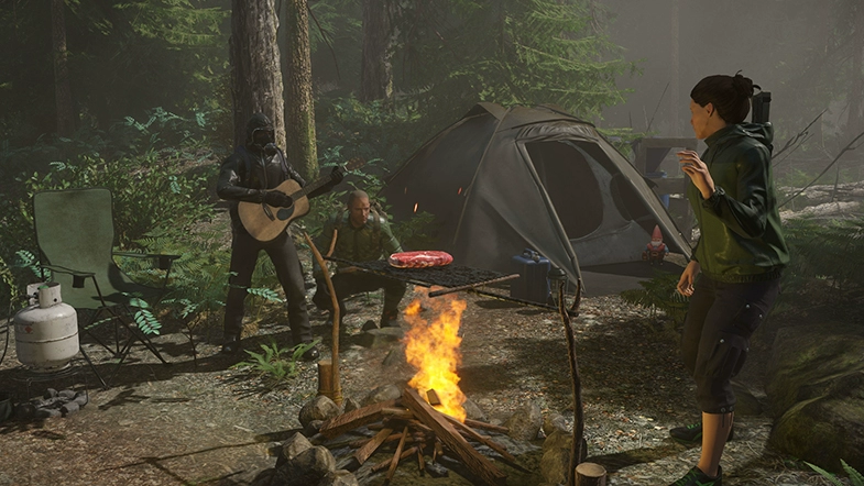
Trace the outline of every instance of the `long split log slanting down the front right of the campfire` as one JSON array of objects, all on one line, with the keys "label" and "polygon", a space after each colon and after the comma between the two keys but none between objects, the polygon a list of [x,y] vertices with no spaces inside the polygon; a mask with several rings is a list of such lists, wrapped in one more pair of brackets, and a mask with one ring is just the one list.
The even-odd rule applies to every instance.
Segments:
[{"label": "long split log slanting down the front right of the campfire", "polygon": [[472,472],[478,474],[486,484],[504,485],[507,476],[499,471],[488,459],[477,452],[468,441],[460,435],[453,426],[427,404],[414,389],[406,388],[402,394],[402,401],[424,424],[435,431],[441,442],[449,448]]}]

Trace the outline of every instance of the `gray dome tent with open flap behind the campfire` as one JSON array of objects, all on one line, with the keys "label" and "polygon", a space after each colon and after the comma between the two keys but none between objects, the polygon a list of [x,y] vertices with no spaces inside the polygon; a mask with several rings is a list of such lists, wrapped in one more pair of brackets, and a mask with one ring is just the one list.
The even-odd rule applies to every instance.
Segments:
[{"label": "gray dome tent with open flap behind the campfire", "polygon": [[[475,104],[389,179],[394,218],[427,211],[455,263],[510,272],[531,247],[581,280],[579,265],[633,262],[654,225],[690,246],[645,179],[588,122],[550,107]],[[416,248],[427,250],[427,248]]]}]

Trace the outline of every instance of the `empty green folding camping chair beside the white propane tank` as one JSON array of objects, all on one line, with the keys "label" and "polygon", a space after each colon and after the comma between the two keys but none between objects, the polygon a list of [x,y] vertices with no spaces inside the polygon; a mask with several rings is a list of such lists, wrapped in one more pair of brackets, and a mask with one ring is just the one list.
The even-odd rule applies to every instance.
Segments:
[{"label": "empty green folding camping chair beside the white propane tank", "polygon": [[[51,279],[61,284],[64,302],[78,310],[79,314],[83,310],[89,314],[86,322],[79,319],[79,332],[91,336],[118,360],[111,376],[127,358],[135,341],[140,341],[162,363],[167,364],[131,318],[129,303],[134,297],[145,301],[161,297],[171,264],[178,256],[113,252],[111,191],[106,188],[37,192],[33,196],[33,223],[43,272],[51,270]],[[114,256],[155,258],[158,268],[165,272],[162,287],[132,281],[117,266]],[[111,323],[113,342],[103,340],[96,332],[103,324]],[[97,378],[107,388],[84,347],[80,350]]]}]

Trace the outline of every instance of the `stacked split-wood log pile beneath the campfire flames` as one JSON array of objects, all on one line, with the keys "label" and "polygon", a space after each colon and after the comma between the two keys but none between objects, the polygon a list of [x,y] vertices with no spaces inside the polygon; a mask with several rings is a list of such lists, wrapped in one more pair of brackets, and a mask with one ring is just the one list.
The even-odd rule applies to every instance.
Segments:
[{"label": "stacked split-wood log pile beneath the campfire flames", "polygon": [[[429,394],[429,398],[435,402],[434,393]],[[406,388],[400,399],[374,404],[327,420],[319,433],[335,439],[361,427],[378,432],[372,438],[349,443],[356,449],[353,459],[359,465],[363,465],[375,452],[395,444],[390,459],[372,466],[372,472],[386,471],[384,484],[390,484],[397,466],[407,462],[416,462],[423,474],[433,477],[446,474],[447,470],[437,464],[442,454],[458,460],[484,484],[506,484],[506,475],[471,443],[485,445],[502,461],[520,467],[504,446],[478,431],[506,433],[506,428],[470,419],[460,422],[437,411],[411,388]]]}]

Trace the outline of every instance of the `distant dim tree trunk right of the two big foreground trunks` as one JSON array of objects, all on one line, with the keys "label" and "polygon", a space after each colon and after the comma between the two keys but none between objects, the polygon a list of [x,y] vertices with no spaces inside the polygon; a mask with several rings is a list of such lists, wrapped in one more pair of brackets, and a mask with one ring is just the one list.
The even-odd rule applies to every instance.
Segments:
[{"label": "distant dim tree trunk right of the two big foreground trunks", "polygon": [[393,96],[393,30],[390,0],[363,0],[363,58],[360,100],[389,100]]}]

